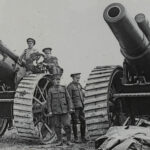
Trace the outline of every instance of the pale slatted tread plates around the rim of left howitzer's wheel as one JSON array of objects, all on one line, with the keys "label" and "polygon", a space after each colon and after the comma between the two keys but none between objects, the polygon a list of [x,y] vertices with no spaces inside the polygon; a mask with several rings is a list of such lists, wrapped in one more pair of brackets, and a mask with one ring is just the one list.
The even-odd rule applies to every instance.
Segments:
[{"label": "pale slatted tread plates around the rim of left howitzer's wheel", "polygon": [[14,98],[14,125],[25,140],[39,140],[38,129],[33,123],[32,101],[38,81],[45,74],[25,76],[18,85]]}]

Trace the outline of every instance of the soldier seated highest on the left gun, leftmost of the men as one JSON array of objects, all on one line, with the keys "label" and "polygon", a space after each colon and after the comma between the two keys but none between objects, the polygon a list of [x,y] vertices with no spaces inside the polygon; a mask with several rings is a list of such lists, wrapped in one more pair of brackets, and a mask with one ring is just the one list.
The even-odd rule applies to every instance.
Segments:
[{"label": "soldier seated highest on the left gun, leftmost of the men", "polygon": [[34,49],[35,40],[32,38],[27,39],[28,48],[24,50],[23,54],[20,56],[20,61],[22,61],[26,66],[26,71],[31,73],[39,73],[41,70],[34,65],[34,61],[42,56],[36,49]]}]

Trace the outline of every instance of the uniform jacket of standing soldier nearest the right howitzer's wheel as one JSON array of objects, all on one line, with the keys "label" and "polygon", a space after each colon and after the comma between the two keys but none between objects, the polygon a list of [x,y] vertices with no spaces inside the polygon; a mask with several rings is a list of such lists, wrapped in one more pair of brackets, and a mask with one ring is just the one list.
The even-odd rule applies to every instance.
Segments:
[{"label": "uniform jacket of standing soldier nearest the right howitzer's wheel", "polygon": [[74,108],[83,108],[84,107],[84,93],[82,91],[82,86],[80,83],[71,82],[68,87],[68,92],[72,98]]}]

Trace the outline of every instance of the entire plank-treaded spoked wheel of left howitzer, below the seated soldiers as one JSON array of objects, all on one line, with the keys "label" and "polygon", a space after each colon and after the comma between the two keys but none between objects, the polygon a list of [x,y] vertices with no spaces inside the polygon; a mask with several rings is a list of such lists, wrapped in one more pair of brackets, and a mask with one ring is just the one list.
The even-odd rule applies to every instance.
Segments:
[{"label": "entire plank-treaded spoked wheel of left howitzer, below the seated soldiers", "polygon": [[51,77],[46,74],[30,74],[18,85],[14,98],[14,125],[25,140],[47,144],[55,139],[51,118],[46,116],[46,96],[51,85]]}]

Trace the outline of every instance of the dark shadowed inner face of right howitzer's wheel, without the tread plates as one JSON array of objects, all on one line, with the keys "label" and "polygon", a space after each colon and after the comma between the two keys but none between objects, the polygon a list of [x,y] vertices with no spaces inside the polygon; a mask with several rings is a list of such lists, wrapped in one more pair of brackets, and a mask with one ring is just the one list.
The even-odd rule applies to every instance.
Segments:
[{"label": "dark shadowed inner face of right howitzer's wheel, without the tread plates", "polygon": [[122,113],[122,104],[119,99],[114,99],[113,94],[119,93],[121,90],[121,78],[123,76],[123,70],[121,67],[117,67],[112,72],[110,83],[108,86],[108,114],[110,126],[123,125],[126,117]]}]

